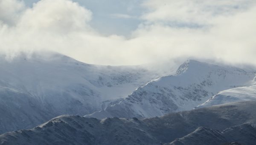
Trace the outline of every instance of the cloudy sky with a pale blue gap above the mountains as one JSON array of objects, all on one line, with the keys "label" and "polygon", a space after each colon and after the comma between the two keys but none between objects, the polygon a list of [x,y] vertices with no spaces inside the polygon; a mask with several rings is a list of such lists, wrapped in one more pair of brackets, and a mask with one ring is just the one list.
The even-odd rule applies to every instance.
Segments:
[{"label": "cloudy sky with a pale blue gap above the mountains", "polygon": [[177,58],[256,65],[255,0],[0,0],[0,53],[84,63]]}]

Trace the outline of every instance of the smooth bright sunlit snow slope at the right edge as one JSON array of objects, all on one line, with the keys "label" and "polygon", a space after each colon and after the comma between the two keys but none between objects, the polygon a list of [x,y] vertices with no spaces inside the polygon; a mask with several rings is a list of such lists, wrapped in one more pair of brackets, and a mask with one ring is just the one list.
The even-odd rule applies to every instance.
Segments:
[{"label": "smooth bright sunlit snow slope at the right edge", "polygon": [[207,100],[197,108],[219,105],[228,102],[253,101],[256,100],[256,85],[244,86],[224,90]]}]

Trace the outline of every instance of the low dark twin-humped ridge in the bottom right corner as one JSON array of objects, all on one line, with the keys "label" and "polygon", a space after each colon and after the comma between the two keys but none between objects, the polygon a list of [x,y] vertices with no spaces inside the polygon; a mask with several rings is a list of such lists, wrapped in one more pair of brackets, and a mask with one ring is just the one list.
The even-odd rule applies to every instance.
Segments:
[{"label": "low dark twin-humped ridge in the bottom right corner", "polygon": [[194,132],[165,145],[255,145],[255,143],[256,127],[242,124],[227,128],[222,132],[200,127]]}]

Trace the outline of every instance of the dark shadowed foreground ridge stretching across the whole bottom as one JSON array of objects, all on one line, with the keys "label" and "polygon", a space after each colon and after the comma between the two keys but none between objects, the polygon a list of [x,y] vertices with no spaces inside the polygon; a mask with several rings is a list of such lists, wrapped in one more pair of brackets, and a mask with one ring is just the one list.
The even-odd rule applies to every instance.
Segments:
[{"label": "dark shadowed foreground ridge stretching across the whole bottom", "polygon": [[[191,138],[197,145],[251,143],[256,142],[255,127],[252,126],[256,124],[255,105],[256,102],[235,102],[143,120],[99,120],[65,115],[31,130],[2,134],[0,144],[160,145],[171,142],[183,145],[177,143],[186,143]],[[200,140],[202,138],[205,140]],[[250,139],[250,142],[244,139]]]}]

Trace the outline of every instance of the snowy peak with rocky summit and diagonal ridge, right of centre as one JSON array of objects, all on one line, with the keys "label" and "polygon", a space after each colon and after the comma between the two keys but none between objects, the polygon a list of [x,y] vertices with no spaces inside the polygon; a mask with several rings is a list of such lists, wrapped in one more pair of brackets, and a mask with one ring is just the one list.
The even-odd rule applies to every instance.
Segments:
[{"label": "snowy peak with rocky summit and diagonal ridge, right of centre", "polygon": [[176,75],[148,82],[120,102],[85,117],[147,118],[190,110],[219,91],[251,84],[254,77],[240,68],[189,60]]}]

